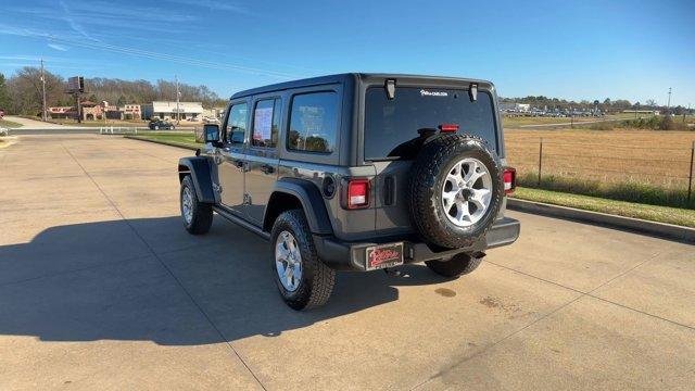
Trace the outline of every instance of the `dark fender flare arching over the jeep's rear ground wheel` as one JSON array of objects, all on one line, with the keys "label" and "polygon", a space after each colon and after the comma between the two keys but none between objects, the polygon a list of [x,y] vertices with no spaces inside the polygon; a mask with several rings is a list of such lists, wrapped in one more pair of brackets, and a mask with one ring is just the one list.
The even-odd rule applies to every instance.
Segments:
[{"label": "dark fender flare arching over the jeep's rear ground wheel", "polygon": [[270,192],[268,207],[265,209],[263,216],[264,227],[273,227],[274,222],[270,219],[273,219],[274,216],[273,212],[269,213],[269,211],[274,211],[273,200],[277,193],[293,195],[300,201],[312,234],[331,235],[333,232],[330,217],[328,217],[328,212],[326,211],[324,197],[318,187],[312,181],[299,178],[280,178],[275,182],[273,191]]}]

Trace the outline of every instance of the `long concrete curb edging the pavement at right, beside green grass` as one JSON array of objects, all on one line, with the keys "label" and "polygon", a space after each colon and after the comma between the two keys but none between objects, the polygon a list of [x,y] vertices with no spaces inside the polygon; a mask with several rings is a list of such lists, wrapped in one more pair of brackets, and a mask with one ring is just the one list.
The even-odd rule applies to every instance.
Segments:
[{"label": "long concrete curb edging the pavement at right, beside green grass", "polygon": [[513,211],[591,223],[604,227],[627,229],[659,238],[695,243],[695,228],[682,227],[673,224],[648,222],[640,218],[623,217],[607,213],[591,212],[514,198],[507,199],[507,207]]}]

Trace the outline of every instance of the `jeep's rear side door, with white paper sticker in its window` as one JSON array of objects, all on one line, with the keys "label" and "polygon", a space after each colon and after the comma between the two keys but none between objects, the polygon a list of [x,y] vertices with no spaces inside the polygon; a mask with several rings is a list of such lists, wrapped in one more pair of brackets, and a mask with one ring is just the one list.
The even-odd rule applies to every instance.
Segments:
[{"label": "jeep's rear side door, with white paper sticker in its window", "polygon": [[251,137],[247,150],[244,174],[247,216],[263,224],[263,214],[278,178],[278,135],[282,114],[282,99],[278,96],[257,98],[251,114]]}]

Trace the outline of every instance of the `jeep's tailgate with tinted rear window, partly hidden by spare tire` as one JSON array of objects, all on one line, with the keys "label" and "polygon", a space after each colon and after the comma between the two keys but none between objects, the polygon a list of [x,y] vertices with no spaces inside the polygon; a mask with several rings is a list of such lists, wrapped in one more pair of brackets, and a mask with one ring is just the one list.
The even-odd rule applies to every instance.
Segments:
[{"label": "jeep's tailgate with tinted rear window, partly hidden by spare tire", "polygon": [[397,87],[388,99],[383,87],[365,92],[364,156],[377,177],[376,231],[412,231],[408,205],[410,167],[422,141],[440,125],[458,125],[458,134],[479,136],[496,152],[496,113],[490,92],[471,101],[463,88]]}]

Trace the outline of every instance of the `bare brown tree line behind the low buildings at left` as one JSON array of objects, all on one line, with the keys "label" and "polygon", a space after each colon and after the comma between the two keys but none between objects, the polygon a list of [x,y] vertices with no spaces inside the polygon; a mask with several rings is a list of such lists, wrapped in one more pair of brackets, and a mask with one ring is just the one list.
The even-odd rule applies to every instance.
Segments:
[{"label": "bare brown tree line behind the low buildings at left", "polygon": [[[67,80],[60,75],[45,71],[47,106],[75,106],[75,98],[65,92]],[[206,86],[179,83],[181,101],[202,102],[206,109],[224,106],[226,100]],[[96,103],[102,101],[122,106],[128,103],[151,103],[152,101],[175,101],[176,84],[157,80],[122,80],[117,78],[85,78],[83,100]],[[25,66],[5,78],[0,74],[0,109],[8,114],[40,115],[42,108],[41,70]]]}]

